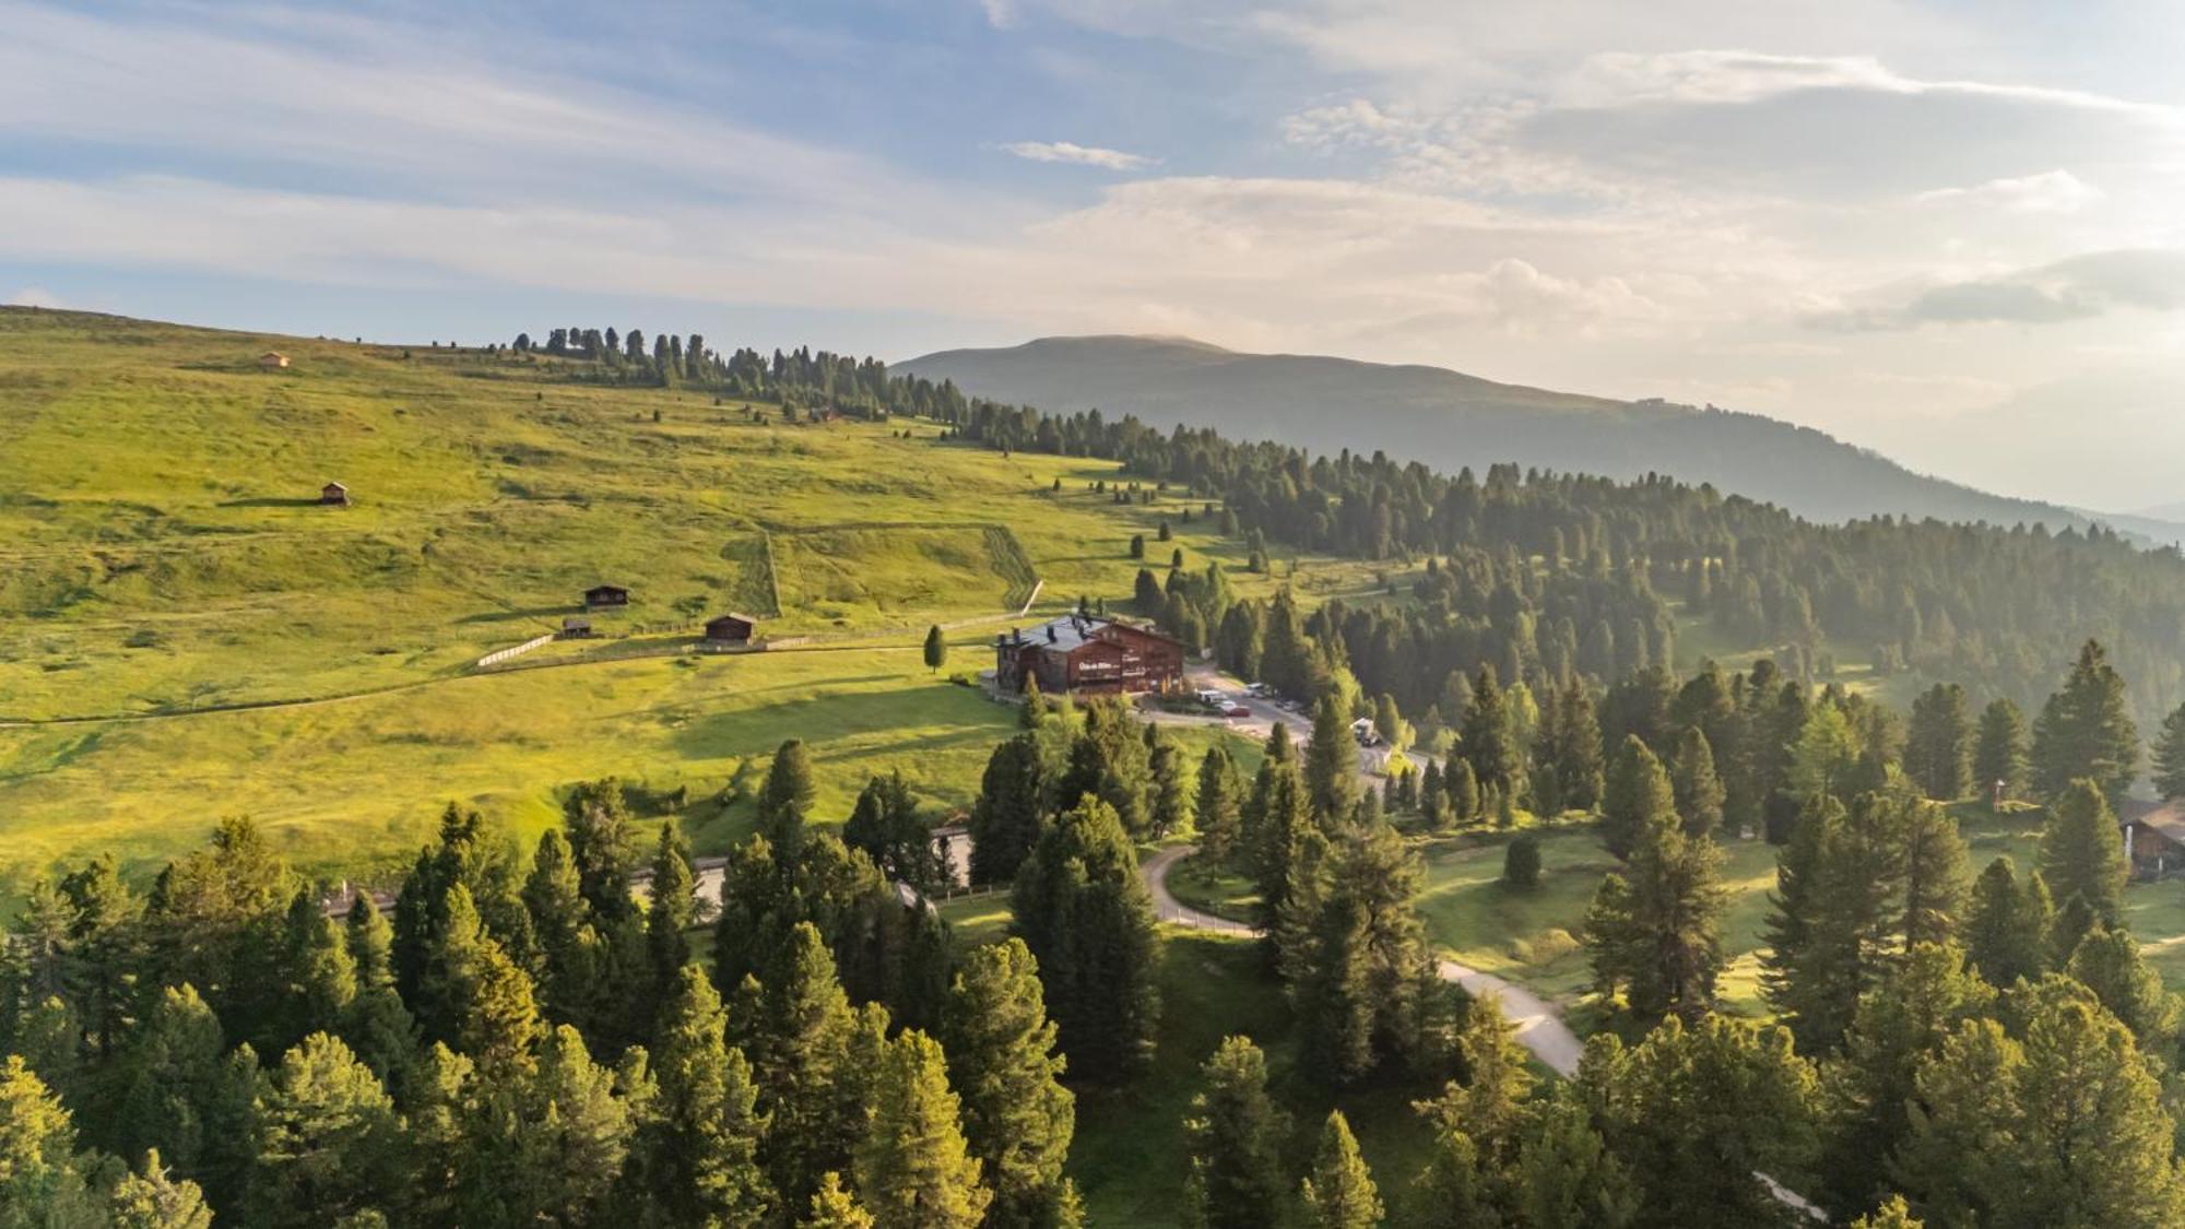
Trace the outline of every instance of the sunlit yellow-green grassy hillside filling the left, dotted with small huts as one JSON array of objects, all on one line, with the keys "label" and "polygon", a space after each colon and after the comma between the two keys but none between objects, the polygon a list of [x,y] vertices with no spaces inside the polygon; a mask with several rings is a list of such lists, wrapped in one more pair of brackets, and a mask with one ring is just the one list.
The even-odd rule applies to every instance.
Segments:
[{"label": "sunlit yellow-green grassy hillside filling the left, dotted with small huts", "polygon": [[[258,370],[267,348],[293,365]],[[1005,619],[1034,577],[1036,614],[1121,601],[1130,536],[1165,516],[1191,566],[1272,588],[1195,503],[1088,490],[1103,461],[557,376],[0,308],[0,901],[105,848],[149,873],[232,814],[308,870],[369,877],[448,800],[529,831],[610,772],[710,798],[791,735],[815,744],[819,816],[889,768],[957,807],[1009,713],[946,674],[990,665],[1001,623],[955,630],[942,678],[926,623]],[[310,503],[328,477],[354,507]],[[728,608],[819,643],[470,674],[601,580],[634,590],[594,617],[610,639],[527,665],[675,649],[688,632],[629,634]],[[1298,573],[1309,599],[1370,584],[1353,562]],[[306,704],[208,711],[267,702]],[[708,800],[686,822],[712,851],[741,816]]]}]

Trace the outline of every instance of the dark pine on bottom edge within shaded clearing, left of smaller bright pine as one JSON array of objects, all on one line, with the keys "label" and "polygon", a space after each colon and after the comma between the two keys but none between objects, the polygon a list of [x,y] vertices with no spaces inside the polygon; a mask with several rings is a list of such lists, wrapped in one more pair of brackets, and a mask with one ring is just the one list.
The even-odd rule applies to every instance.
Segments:
[{"label": "dark pine on bottom edge within shaded clearing, left of smaller bright pine", "polygon": [[1267,1096],[1267,1056],[1245,1037],[1224,1037],[1200,1067],[1184,1120],[1191,1179],[1186,1225],[1263,1229],[1283,1207],[1287,1115]]}]

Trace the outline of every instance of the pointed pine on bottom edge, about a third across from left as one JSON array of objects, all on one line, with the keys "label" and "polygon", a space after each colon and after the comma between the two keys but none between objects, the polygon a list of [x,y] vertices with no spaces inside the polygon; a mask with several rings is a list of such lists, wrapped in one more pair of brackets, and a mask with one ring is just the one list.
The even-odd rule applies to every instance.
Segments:
[{"label": "pointed pine on bottom edge, about a third across from left", "polygon": [[752,1065],[721,1034],[721,995],[693,967],[660,1008],[658,1093],[642,1135],[642,1190],[669,1225],[758,1225],[773,1190],[758,1170],[765,1120]]}]

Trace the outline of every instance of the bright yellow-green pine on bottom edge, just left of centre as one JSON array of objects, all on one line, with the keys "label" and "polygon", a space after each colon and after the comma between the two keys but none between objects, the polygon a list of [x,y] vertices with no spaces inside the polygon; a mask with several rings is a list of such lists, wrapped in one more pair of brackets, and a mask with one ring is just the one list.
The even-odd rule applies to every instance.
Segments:
[{"label": "bright yellow-green pine on bottom edge, just left of centre", "polygon": [[977,1229],[994,1192],[964,1144],[937,1041],[905,1030],[874,1072],[872,1122],[857,1148],[857,1190],[876,1225]]}]

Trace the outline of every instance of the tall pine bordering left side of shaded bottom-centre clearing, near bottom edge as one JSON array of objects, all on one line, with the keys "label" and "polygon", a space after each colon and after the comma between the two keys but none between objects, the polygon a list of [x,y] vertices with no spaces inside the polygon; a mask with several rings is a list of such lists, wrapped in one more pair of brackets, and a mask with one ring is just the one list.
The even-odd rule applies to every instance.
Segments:
[{"label": "tall pine bordering left side of shaded bottom-centre clearing, near bottom edge", "polygon": [[942,1047],[964,1098],[964,1137],[994,1190],[985,1225],[1047,1225],[1062,1198],[1077,1109],[1060,1082],[1055,1026],[1023,940],[966,956],[942,1013]]}]

